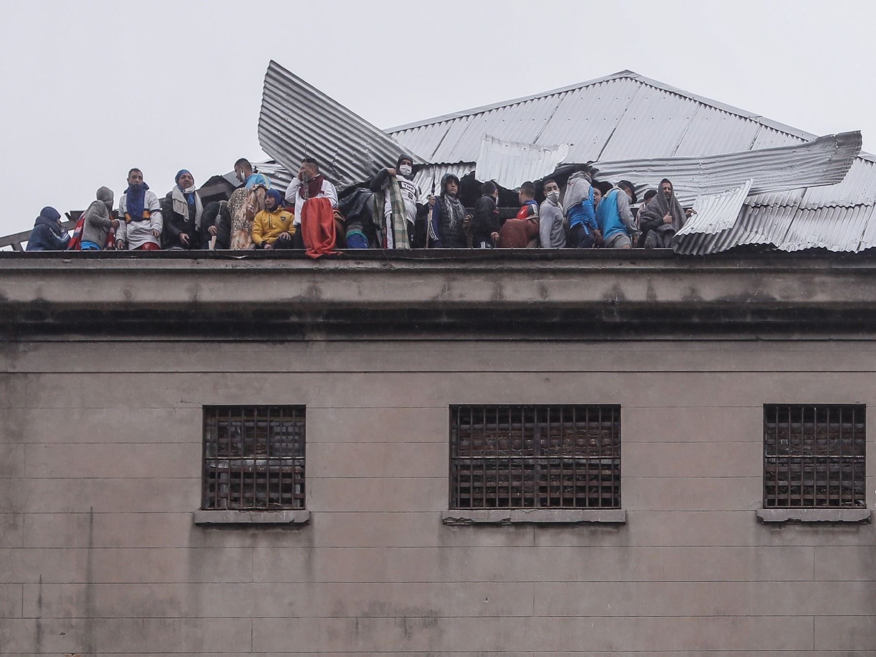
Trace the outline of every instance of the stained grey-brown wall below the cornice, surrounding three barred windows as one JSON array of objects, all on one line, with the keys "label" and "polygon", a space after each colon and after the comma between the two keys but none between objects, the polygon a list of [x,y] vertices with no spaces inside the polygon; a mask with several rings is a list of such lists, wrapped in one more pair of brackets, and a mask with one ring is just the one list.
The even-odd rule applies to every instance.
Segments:
[{"label": "stained grey-brown wall below the cornice, surrounding three barred windows", "polygon": [[[763,404],[872,407],[876,343],[4,350],[0,654],[876,655],[874,526],[755,519]],[[626,524],[444,526],[468,403],[620,404]],[[213,404],[307,405],[309,526],[194,525]]]}]

